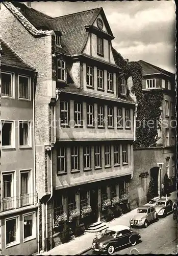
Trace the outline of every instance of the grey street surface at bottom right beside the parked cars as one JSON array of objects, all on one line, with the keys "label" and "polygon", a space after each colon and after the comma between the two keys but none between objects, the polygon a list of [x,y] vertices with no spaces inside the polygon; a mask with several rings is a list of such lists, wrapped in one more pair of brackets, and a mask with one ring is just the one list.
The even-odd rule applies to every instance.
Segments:
[{"label": "grey street surface at bottom right beside the parked cars", "polygon": [[[158,222],[150,224],[145,228],[134,228],[141,234],[140,243],[136,246],[125,246],[116,250],[116,254],[129,254],[132,248],[137,248],[140,254],[175,254],[177,244],[177,226],[173,220],[172,214],[166,218],[159,219]],[[174,252],[173,252],[174,251]],[[96,254],[92,250],[85,252],[83,255]]]}]

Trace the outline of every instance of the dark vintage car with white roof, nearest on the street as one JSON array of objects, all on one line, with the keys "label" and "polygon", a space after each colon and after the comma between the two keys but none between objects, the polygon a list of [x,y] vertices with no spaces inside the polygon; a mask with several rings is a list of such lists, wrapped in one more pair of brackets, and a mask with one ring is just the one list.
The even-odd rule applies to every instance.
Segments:
[{"label": "dark vintage car with white roof, nearest on the street", "polygon": [[98,253],[112,254],[115,249],[131,244],[135,246],[141,238],[140,234],[128,226],[117,225],[107,228],[100,238],[94,238],[92,249]]}]

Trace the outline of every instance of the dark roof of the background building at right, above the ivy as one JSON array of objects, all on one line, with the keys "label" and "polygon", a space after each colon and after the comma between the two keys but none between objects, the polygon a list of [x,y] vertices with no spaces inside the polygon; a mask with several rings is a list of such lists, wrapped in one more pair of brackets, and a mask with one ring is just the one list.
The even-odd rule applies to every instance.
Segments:
[{"label": "dark roof of the background building at right, above the ivy", "polygon": [[144,60],[139,60],[138,62],[141,64],[141,66],[143,68],[143,75],[163,73],[163,74],[168,75],[168,76],[173,76],[172,73],[170,73],[170,72],[168,72],[164,69],[161,69],[157,66],[154,66],[151,63],[148,63]]}]

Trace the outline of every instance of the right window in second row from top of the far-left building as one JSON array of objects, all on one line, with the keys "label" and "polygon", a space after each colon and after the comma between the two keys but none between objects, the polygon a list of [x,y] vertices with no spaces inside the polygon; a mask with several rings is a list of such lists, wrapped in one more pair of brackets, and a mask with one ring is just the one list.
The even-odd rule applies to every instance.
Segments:
[{"label": "right window in second row from top of the far-left building", "polygon": [[31,144],[31,133],[30,133],[30,122],[20,121],[19,122],[19,145],[30,146]]}]

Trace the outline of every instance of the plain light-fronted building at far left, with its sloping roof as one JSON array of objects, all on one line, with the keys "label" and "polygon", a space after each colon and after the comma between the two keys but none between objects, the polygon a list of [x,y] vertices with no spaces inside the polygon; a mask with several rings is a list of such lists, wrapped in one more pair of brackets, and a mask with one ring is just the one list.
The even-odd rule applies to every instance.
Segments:
[{"label": "plain light-fronted building at far left, with its sloping roof", "polygon": [[1,253],[37,250],[35,69],[1,42]]}]

